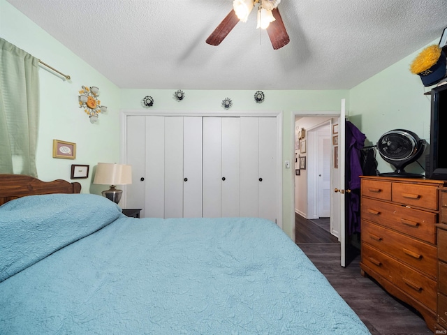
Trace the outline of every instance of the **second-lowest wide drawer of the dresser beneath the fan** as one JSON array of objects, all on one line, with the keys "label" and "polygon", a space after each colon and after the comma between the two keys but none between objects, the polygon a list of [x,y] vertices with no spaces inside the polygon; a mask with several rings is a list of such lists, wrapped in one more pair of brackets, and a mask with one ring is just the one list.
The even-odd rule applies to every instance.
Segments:
[{"label": "second-lowest wide drawer of the dresser beneath the fan", "polygon": [[398,232],[362,221],[362,242],[393,255],[423,273],[437,277],[437,248]]}]

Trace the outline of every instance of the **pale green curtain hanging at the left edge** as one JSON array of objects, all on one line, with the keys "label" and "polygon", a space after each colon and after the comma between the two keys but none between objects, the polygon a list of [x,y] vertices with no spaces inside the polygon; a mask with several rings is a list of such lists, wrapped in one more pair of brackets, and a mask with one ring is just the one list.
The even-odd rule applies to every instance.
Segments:
[{"label": "pale green curtain hanging at the left edge", "polygon": [[0,38],[0,173],[37,177],[38,59]]}]

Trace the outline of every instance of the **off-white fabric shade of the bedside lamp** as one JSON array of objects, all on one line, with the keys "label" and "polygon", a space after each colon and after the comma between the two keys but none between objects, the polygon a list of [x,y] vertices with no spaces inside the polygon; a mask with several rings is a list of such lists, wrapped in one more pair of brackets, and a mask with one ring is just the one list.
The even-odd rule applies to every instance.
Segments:
[{"label": "off-white fabric shade of the bedside lamp", "polygon": [[132,167],[116,163],[98,163],[93,184],[132,184]]}]

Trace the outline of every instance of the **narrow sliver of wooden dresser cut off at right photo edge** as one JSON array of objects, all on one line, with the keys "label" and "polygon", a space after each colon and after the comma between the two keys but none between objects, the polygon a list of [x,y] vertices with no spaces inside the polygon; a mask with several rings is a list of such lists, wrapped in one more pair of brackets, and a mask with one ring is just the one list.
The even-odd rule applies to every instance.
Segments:
[{"label": "narrow sliver of wooden dresser cut off at right photo edge", "polygon": [[441,188],[438,241],[437,334],[447,334],[447,188]]}]

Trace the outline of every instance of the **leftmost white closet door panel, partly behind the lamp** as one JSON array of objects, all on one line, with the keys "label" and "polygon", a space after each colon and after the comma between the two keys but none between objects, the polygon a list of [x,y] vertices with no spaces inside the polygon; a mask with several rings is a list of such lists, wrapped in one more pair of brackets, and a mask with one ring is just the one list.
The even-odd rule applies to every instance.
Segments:
[{"label": "leftmost white closet door panel, partly behind the lamp", "polygon": [[126,118],[126,163],[132,165],[132,184],[126,186],[126,207],[141,208],[145,217],[145,116]]}]

